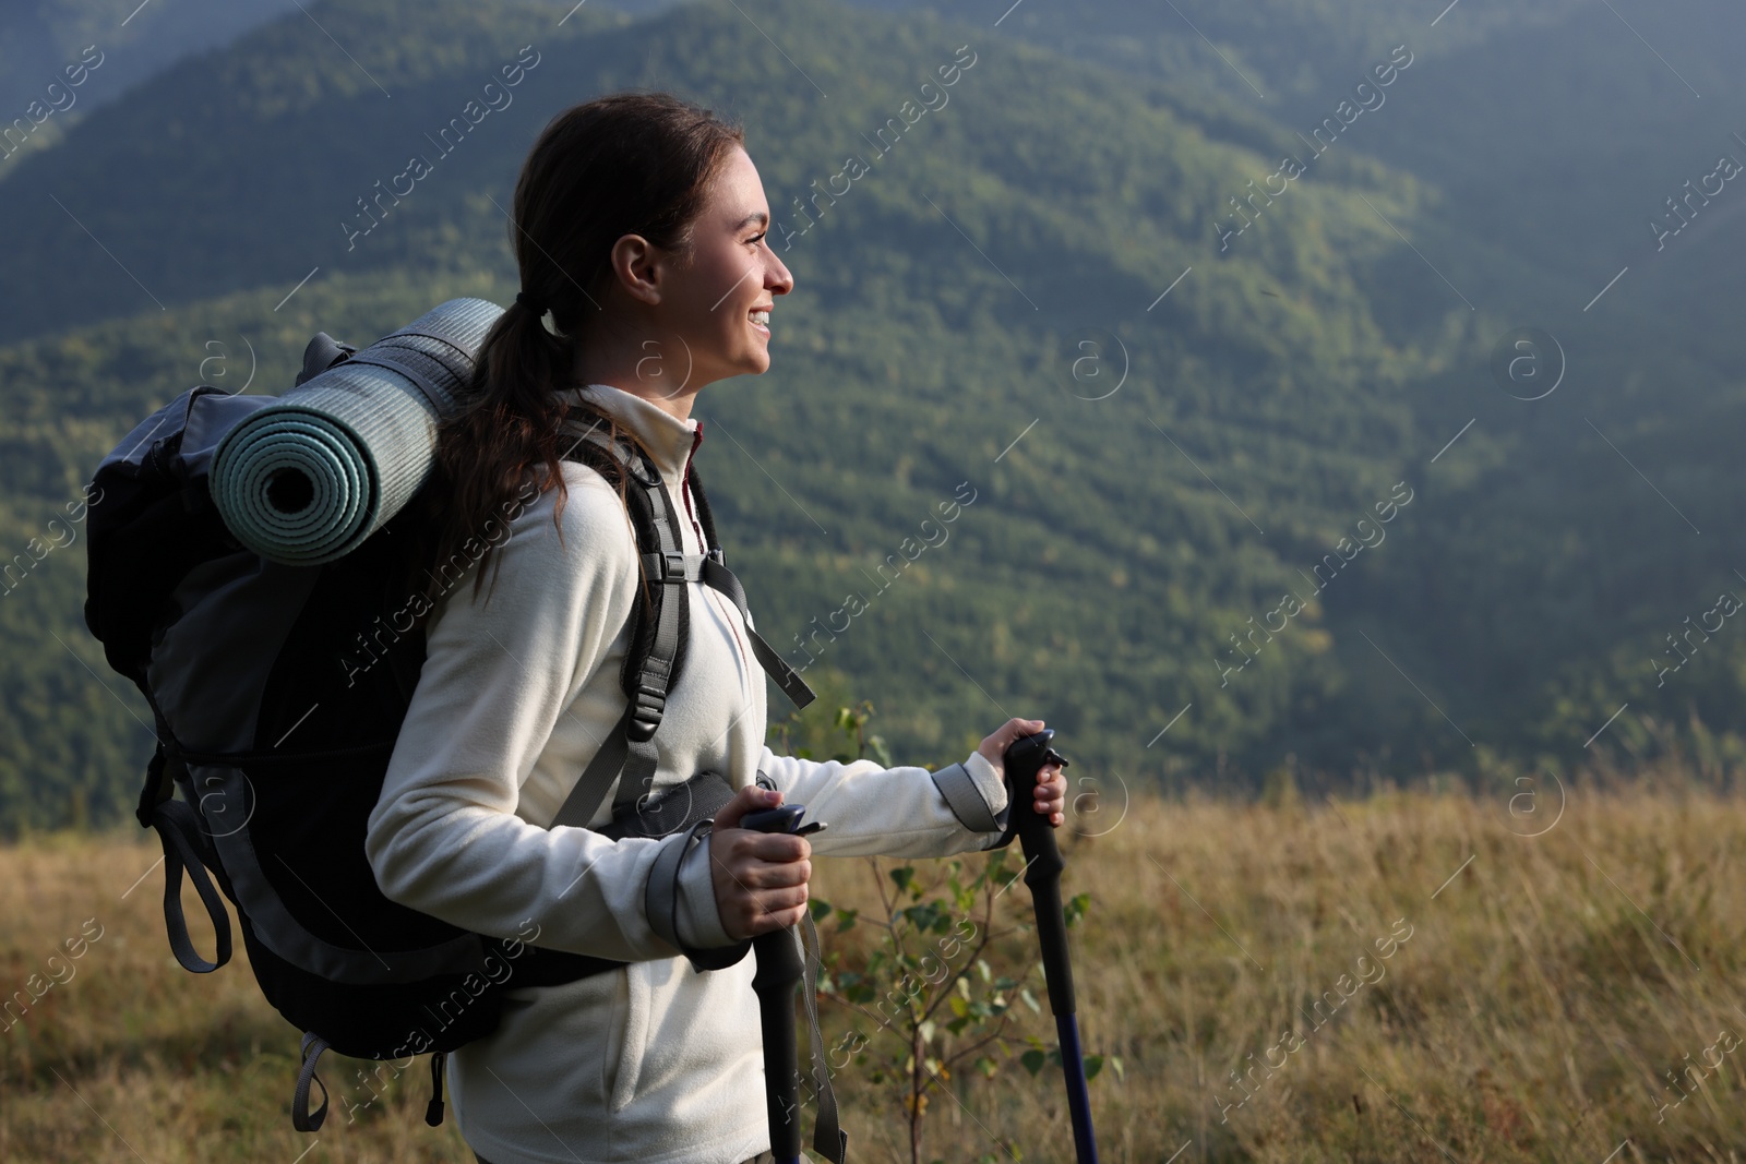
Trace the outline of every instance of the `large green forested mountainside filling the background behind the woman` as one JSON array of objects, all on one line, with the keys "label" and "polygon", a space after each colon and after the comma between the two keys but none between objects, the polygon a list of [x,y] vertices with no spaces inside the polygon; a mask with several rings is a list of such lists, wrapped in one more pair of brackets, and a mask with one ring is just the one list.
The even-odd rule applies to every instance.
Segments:
[{"label": "large green forested mountainside filling the background behind the woman", "polygon": [[[1102,5],[1083,31],[1137,7]],[[316,330],[365,342],[442,298],[508,302],[501,208],[527,145],[569,103],[651,86],[744,122],[796,276],[772,370],[697,405],[732,560],[766,637],[815,660],[829,698],[871,698],[897,756],[957,757],[1023,714],[1105,780],[1252,785],[1287,756],[1303,780],[1430,763],[1502,780],[1580,761],[1627,700],[1594,747],[1645,747],[1690,709],[1713,743],[1746,686],[1729,630],[1659,688],[1641,679],[1730,585],[1739,337],[1662,312],[1638,269],[1585,311],[1636,262],[1629,239],[1601,251],[1599,211],[1526,215],[1578,223],[1587,253],[1564,260],[1500,227],[1500,188],[1563,188],[1507,166],[1496,143],[1533,131],[1505,98],[1481,113],[1495,140],[1451,129],[1444,154],[1390,154],[1406,133],[1390,119],[1453,99],[1439,86],[1463,52],[1550,33],[1454,28],[1477,7],[1461,5],[1433,30],[1451,47],[1392,58],[1402,40],[1372,44],[1386,23],[1343,31],[1362,5],[1273,7],[1322,30],[1299,38],[1310,72],[1259,47],[1234,61],[1273,101],[1147,72],[1165,59],[1147,56],[1165,52],[1156,14],[1109,68],[1032,44],[1041,5],[1000,28],[999,10],[835,0],[760,5],[756,23],[718,0],[646,17],[292,12],[94,110],[0,183],[0,544],[14,562],[49,544],[98,457],[190,384],[253,373],[248,391],[279,393]],[[1196,24],[1234,44],[1248,17],[1231,12]],[[1589,68],[1627,56],[1578,44]],[[1350,122],[1341,54],[1393,59],[1386,103]],[[953,61],[953,86],[920,89]],[[505,66],[520,80],[491,98]],[[1287,96],[1315,115],[1275,108]],[[1325,141],[1299,138],[1323,115]],[[1634,124],[1633,141],[1659,122]],[[428,173],[384,197],[409,157]],[[847,192],[801,215],[833,176],[845,188],[852,157]],[[1718,272],[1715,244],[1674,250],[1701,225],[1645,274]],[[1528,325],[1568,363],[1531,401],[1491,372]],[[920,525],[971,494],[950,527]],[[82,551],[23,562],[0,600],[0,822],[119,818],[150,743],[143,702],[84,632]],[[866,613],[815,635],[850,593]]]}]

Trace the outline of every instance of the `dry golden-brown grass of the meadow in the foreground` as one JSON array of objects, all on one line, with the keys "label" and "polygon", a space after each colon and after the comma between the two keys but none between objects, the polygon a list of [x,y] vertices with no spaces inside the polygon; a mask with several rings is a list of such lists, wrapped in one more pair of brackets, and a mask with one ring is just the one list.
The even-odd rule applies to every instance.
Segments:
[{"label": "dry golden-brown grass of the meadow in the foreground", "polygon": [[[1107,836],[1065,838],[1067,890],[1093,897],[1072,930],[1086,1049],[1126,1065],[1091,1085],[1103,1159],[1184,1145],[1182,1162],[1739,1159],[1746,801],[1573,791],[1556,827],[1524,831],[1502,803],[1397,792],[1137,801]],[[0,1159],[290,1164],[309,1148],[286,1119],[292,1028],[243,967],[175,965],[161,873],[122,899],[155,859],[133,839],[0,852],[0,989],[45,974],[87,918],[103,927],[75,977],[0,1035]],[[817,895],[875,906],[866,862],[819,864]],[[1028,907],[1021,888],[1002,904]],[[1379,960],[1376,939],[1406,927]],[[1023,955],[1004,939],[1002,962]],[[1343,988],[1337,1012],[1311,1010]],[[1020,1033],[1053,1024],[1025,1012]],[[1706,1056],[1720,1068],[1695,1066]],[[323,1072],[337,1092],[346,1066]],[[1690,1098],[1662,1108],[1680,1094],[1669,1072]],[[426,1080],[416,1066],[302,1159],[470,1161],[452,1126],[423,1126]],[[854,1157],[906,1161],[890,1099],[854,1068],[836,1080]],[[955,1082],[960,1103],[929,1110],[924,1159],[1013,1159],[1004,1143],[1072,1159],[1056,1077]]]}]

